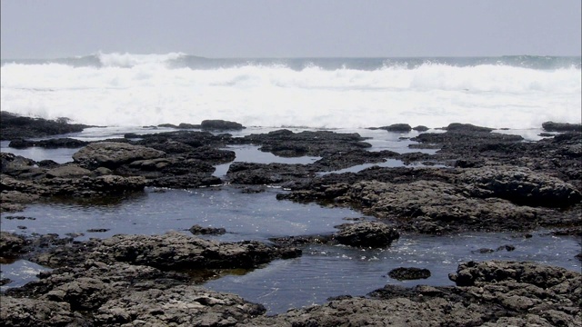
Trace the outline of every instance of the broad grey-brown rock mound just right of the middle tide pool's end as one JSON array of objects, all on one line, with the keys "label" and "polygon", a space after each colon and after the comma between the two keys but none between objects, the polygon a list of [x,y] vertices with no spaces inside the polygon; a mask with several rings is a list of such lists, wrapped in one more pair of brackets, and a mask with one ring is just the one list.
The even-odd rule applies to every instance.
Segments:
[{"label": "broad grey-brown rock mound just right of the middle tide pool's end", "polygon": [[471,198],[454,185],[437,181],[359,182],[341,198],[357,203],[364,213],[395,220],[400,228],[413,230],[423,223],[441,226],[442,232],[523,229],[536,225],[538,213],[543,213],[497,198]]}]

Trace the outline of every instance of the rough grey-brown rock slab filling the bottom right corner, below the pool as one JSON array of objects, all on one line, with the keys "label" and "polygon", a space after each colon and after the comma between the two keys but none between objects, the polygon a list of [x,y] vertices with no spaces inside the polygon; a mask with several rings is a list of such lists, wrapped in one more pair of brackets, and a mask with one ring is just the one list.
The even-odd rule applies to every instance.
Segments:
[{"label": "rough grey-brown rock slab filling the bottom right corner, below the pool", "polygon": [[[536,263],[473,263],[495,266],[515,279],[476,286],[386,285],[364,297],[338,297],[322,305],[261,316],[242,326],[577,326],[581,317],[578,272]],[[467,263],[459,266],[464,271]],[[477,271],[488,274],[489,268]],[[529,272],[545,272],[552,282],[538,284]],[[474,277],[479,278],[476,272]],[[532,275],[533,276],[533,275]],[[551,287],[545,287],[553,285]]]}]

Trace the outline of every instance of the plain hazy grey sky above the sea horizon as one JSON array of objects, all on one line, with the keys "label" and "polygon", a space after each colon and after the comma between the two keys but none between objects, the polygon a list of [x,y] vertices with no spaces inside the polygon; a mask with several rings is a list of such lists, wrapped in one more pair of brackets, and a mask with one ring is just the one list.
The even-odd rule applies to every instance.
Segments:
[{"label": "plain hazy grey sky above the sea horizon", "polygon": [[3,59],[580,55],[580,0],[0,0]]}]

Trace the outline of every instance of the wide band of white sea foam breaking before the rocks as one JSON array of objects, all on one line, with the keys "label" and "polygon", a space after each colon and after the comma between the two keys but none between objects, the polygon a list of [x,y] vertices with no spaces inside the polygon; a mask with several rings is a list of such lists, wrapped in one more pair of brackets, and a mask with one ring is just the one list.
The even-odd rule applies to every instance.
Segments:
[{"label": "wide band of white sea foam breaking before the rocks", "polygon": [[580,123],[577,67],[387,65],[196,69],[184,54],[98,54],[101,66],[3,64],[2,110],[75,123],[140,126],[225,119],[247,126],[360,128],[452,122],[534,128]]}]

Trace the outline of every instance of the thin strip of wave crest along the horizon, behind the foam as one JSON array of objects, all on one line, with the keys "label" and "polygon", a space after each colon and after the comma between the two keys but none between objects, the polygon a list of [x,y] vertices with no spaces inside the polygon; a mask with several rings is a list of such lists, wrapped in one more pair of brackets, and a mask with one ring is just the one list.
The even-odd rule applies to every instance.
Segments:
[{"label": "thin strip of wave crest along the horizon, behind the foam", "polygon": [[479,65],[507,65],[536,70],[555,70],[582,66],[580,56],[504,55],[497,57],[378,57],[378,58],[206,58],[202,56],[168,54],[103,53],[56,59],[2,60],[4,64],[67,64],[75,67],[125,67],[159,64],[167,68],[218,69],[239,66],[274,66],[301,71],[318,67],[323,70],[354,69],[378,70],[384,68],[417,69],[423,65],[442,64],[452,67]]}]

